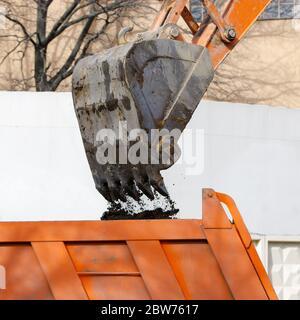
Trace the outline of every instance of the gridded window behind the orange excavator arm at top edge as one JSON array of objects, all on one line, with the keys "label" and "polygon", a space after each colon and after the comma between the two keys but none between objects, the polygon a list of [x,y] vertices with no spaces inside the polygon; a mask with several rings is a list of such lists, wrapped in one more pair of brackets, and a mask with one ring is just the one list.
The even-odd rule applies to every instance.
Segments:
[{"label": "gridded window behind the orange excavator arm at top edge", "polygon": [[[197,22],[201,22],[205,9],[200,0],[190,0],[191,12]],[[300,0],[272,0],[260,20],[300,18]]]}]

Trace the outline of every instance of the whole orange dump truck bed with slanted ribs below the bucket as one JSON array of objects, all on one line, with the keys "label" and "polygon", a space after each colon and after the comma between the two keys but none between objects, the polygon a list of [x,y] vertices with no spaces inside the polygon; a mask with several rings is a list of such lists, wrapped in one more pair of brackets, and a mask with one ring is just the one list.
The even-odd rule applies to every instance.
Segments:
[{"label": "whole orange dump truck bed with slanted ribs below the bucket", "polygon": [[202,220],[2,222],[0,265],[0,299],[277,299],[232,199],[210,189]]}]

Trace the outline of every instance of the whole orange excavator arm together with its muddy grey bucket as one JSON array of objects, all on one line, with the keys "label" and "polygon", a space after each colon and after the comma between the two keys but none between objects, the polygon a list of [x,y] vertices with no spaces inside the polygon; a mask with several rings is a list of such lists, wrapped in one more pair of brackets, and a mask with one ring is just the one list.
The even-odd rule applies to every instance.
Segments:
[{"label": "whole orange excavator arm together with its muddy grey bucket", "polygon": [[[189,1],[165,0],[148,32],[80,60],[74,69],[73,100],[86,155],[108,201],[139,200],[142,194],[153,200],[155,191],[168,195],[160,171],[179,158],[177,140],[214,70],[270,2],[201,1],[207,16],[200,24]],[[164,134],[157,138],[157,130]],[[176,132],[172,139],[170,132]]]}]

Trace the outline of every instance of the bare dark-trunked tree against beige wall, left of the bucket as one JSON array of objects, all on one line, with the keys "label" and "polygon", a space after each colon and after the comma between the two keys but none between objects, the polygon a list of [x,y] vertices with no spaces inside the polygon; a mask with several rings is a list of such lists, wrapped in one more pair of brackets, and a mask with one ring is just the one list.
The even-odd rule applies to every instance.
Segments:
[{"label": "bare dark-trunked tree against beige wall, left of the bucket", "polygon": [[[94,44],[112,45],[111,26],[124,20],[138,24],[139,17],[153,13],[150,4],[142,0],[0,0],[7,22],[0,34],[0,65],[14,61],[19,76],[10,75],[10,81],[16,87],[55,91]],[[66,50],[53,59],[58,41]],[[26,63],[31,67],[29,74],[24,71]]]}]

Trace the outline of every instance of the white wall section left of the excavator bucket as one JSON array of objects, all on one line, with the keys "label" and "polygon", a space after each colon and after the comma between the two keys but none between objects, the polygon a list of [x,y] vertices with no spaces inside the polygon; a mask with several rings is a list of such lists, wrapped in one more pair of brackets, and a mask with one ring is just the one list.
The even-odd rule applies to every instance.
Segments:
[{"label": "white wall section left of the excavator bucket", "polygon": [[70,94],[0,92],[0,219],[97,219]]}]

